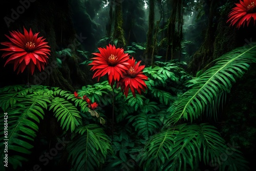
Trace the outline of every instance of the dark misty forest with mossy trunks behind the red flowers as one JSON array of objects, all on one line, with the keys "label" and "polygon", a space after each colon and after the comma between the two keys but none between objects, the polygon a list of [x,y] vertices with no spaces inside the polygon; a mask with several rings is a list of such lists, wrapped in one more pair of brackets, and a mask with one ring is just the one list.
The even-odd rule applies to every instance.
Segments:
[{"label": "dark misty forest with mossy trunks behind the red flowers", "polygon": [[[0,38],[7,41],[4,34],[10,30],[22,32],[23,27],[40,32],[51,47],[50,62],[56,60],[56,52],[63,49],[93,53],[98,47],[115,44],[126,51],[137,48],[132,55],[142,59],[147,66],[153,65],[156,58],[162,61],[177,59],[186,61],[187,71],[196,74],[209,67],[212,60],[247,45],[255,37],[253,26],[237,29],[226,23],[234,7],[233,1],[21,2],[1,2],[3,34]],[[43,82],[67,90],[90,83],[90,72],[81,66],[74,67],[84,59],[74,55],[76,57],[68,59],[73,61],[63,62],[61,72],[54,70]],[[12,74],[11,68],[6,66],[5,71]],[[1,84],[25,83],[22,82],[24,75],[13,73],[15,79]],[[6,74],[1,76],[7,78]],[[65,84],[61,83],[63,81]]]}]

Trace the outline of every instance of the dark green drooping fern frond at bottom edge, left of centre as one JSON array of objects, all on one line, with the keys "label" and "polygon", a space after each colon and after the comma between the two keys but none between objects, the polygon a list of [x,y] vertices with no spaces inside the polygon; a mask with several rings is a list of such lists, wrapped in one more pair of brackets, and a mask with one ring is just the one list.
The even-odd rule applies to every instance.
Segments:
[{"label": "dark green drooping fern frond at bottom edge, left of centre", "polygon": [[[111,141],[96,124],[76,129],[76,137],[68,144],[69,160],[73,170],[95,170],[104,163],[106,155],[112,152]],[[113,153],[113,152],[112,152]]]}]

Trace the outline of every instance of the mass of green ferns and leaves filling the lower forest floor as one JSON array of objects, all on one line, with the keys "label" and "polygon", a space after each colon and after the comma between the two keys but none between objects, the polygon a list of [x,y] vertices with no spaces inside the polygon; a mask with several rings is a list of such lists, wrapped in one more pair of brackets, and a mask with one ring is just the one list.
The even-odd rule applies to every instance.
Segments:
[{"label": "mass of green ferns and leaves filling the lower forest floor", "polygon": [[[195,78],[181,67],[184,63],[158,61],[143,70],[147,90],[136,98],[131,91],[125,97],[120,88],[112,89],[108,80],[84,86],[76,95],[47,86],[1,88],[0,133],[8,113],[9,164],[17,169],[28,161],[40,123],[50,115],[60,135],[69,136],[65,151],[72,170],[246,170],[236,145],[204,122],[218,121],[226,94],[255,55],[255,44],[237,48]],[[100,117],[92,115],[84,95],[99,104],[94,110]],[[0,144],[2,158],[4,148]]]}]

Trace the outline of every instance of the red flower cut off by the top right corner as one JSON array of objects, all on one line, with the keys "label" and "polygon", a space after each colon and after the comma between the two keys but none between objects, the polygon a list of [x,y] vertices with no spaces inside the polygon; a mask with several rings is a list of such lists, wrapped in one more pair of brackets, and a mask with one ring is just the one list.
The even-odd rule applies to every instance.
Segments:
[{"label": "red flower cut off by the top right corner", "polygon": [[230,25],[237,25],[237,28],[240,26],[249,25],[250,21],[253,19],[253,24],[256,20],[256,0],[244,0],[236,4],[237,7],[234,7],[232,11],[228,14],[229,19],[227,22],[230,22]]}]

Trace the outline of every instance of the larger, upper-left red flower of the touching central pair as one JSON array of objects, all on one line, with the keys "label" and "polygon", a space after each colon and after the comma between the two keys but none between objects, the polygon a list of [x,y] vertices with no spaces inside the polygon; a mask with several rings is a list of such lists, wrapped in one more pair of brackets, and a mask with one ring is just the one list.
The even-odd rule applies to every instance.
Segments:
[{"label": "larger, upper-left red flower of the touching central pair", "polygon": [[96,71],[93,78],[99,78],[108,73],[109,84],[111,87],[114,82],[119,81],[123,73],[127,70],[127,62],[129,55],[123,53],[123,49],[117,48],[113,45],[106,46],[105,48],[98,48],[100,53],[93,53],[96,57],[93,57],[93,62],[89,65],[93,67],[91,70]]}]

